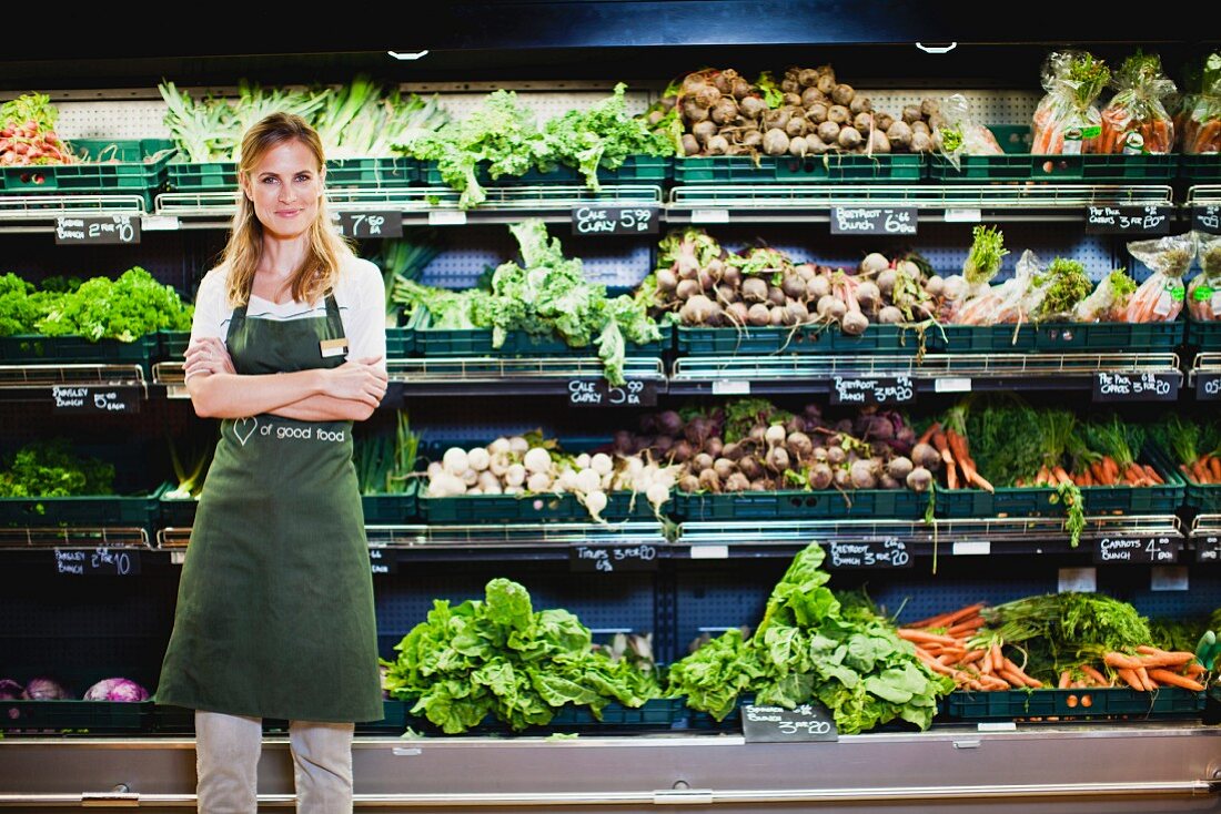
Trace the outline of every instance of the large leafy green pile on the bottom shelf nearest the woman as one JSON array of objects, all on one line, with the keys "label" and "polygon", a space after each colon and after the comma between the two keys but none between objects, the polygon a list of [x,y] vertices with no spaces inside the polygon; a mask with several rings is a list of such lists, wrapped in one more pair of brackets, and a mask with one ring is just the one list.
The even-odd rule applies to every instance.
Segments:
[{"label": "large leafy green pile on the bottom shelf nearest the woman", "polygon": [[523,730],[547,724],[565,704],[601,719],[612,701],[640,707],[661,697],[656,672],[595,649],[569,611],[534,611],[526,588],[505,578],[488,582],[482,600],[435,600],[394,649],[397,659],[382,663],[386,690],[415,701],[411,711],[447,733],[488,714]]}]

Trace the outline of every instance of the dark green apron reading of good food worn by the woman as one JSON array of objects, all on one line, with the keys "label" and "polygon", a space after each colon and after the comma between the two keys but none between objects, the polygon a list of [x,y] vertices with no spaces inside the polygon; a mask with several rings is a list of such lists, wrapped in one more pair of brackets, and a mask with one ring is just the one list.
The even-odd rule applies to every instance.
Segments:
[{"label": "dark green apron reading of good food worn by the woman", "polygon": [[[233,311],[242,375],[337,367],[326,317]],[[382,719],[369,544],[350,421],[225,419],[195,513],[155,699],[305,721]]]}]

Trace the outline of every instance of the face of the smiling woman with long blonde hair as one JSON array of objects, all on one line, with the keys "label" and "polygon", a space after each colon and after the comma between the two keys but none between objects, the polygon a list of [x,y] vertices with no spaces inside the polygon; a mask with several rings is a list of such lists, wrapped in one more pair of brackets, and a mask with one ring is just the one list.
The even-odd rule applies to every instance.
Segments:
[{"label": "face of the smiling woman with long blonde hair", "polygon": [[317,217],[322,175],[308,146],[292,139],[267,150],[248,176],[242,192],[254,204],[264,229],[277,238],[294,238]]}]

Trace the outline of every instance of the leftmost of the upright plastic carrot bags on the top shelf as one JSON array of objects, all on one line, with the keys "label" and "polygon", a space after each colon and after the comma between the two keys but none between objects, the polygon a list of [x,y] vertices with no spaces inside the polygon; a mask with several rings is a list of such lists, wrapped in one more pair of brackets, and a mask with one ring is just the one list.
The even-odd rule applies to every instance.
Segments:
[{"label": "leftmost of the upright plastic carrot bags on the top shelf", "polygon": [[1031,153],[1098,153],[1103,115],[1094,103],[1110,78],[1106,63],[1085,51],[1053,51],[1043,65],[1043,88],[1048,95],[1034,111]]}]

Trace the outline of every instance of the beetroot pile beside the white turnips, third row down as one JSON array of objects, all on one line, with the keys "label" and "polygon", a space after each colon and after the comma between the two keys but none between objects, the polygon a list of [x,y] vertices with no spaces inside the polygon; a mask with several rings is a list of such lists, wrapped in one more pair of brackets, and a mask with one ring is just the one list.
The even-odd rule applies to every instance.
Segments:
[{"label": "beetroot pile beside the white turnips, third row down", "polygon": [[864,408],[832,421],[808,404],[800,414],[766,399],[708,410],[646,415],[641,433],[619,432],[621,454],[646,453],[683,467],[683,492],[900,489],[924,492],[933,476],[912,463],[916,432],[896,411]]}]

